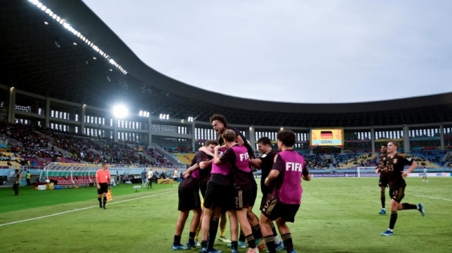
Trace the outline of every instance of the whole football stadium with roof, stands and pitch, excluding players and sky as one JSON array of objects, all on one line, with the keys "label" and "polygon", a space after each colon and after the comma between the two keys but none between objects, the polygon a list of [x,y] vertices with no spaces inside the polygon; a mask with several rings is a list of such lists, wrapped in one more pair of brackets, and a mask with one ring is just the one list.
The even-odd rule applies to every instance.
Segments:
[{"label": "whole football stadium with roof, stands and pitch, excluding players and sky", "polygon": [[[288,223],[297,252],[450,252],[452,93],[337,104],[233,97],[147,66],[81,0],[0,1],[0,12],[1,252],[200,252],[172,248],[177,186],[199,148],[217,139],[215,114],[256,157],[260,138],[278,150],[278,132],[295,133],[312,178]],[[402,202],[423,203],[425,213],[398,212],[394,235],[381,236],[391,196],[386,189],[379,214],[375,168],[391,141],[418,165]],[[113,186],[102,209],[104,162]],[[142,180],[150,169],[152,187]],[[260,185],[262,171],[253,171]],[[253,212],[260,217],[259,205]],[[215,249],[231,251],[219,240]]]}]

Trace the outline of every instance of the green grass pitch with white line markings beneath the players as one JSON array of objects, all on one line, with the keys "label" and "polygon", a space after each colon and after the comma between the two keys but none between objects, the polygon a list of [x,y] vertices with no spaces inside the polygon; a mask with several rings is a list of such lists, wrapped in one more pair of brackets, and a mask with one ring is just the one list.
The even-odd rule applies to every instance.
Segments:
[{"label": "green grass pitch with white line markings beneath the players", "polygon": [[[295,249],[451,252],[452,178],[429,178],[428,183],[422,178],[406,180],[402,202],[424,203],[426,216],[416,210],[399,212],[395,234],[387,237],[380,236],[388,228],[389,214],[378,214],[378,178],[303,181],[302,205],[295,223],[289,223]],[[119,185],[113,194],[114,200],[103,210],[98,207],[95,187],[53,191],[21,187],[19,196],[13,196],[10,188],[1,188],[0,251],[172,252],[179,216],[177,190],[172,185],[154,185],[154,189],[138,192],[132,185]],[[388,196],[386,199],[389,209]],[[257,206],[254,211],[260,216]],[[188,239],[190,218],[182,243]],[[228,227],[226,236],[230,237]],[[215,247],[229,252],[225,243],[217,242]]]}]

